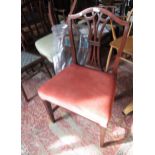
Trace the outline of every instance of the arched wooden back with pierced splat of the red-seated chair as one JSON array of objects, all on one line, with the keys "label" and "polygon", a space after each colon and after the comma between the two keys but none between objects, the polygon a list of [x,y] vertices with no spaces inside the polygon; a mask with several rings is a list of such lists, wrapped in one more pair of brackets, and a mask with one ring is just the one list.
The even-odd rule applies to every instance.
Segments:
[{"label": "arched wooden back with pierced splat of the red-seated chair", "polygon": [[[71,19],[71,20],[70,20]],[[100,51],[101,51],[101,43],[104,43],[104,35],[107,35],[110,32],[110,21],[114,21],[122,26],[126,26],[126,23],[116,17],[110,11],[99,8],[99,7],[91,7],[87,8],[80,13],[69,15],[68,17],[68,24],[69,24],[69,31],[70,31],[70,41],[71,41],[71,50],[72,50],[72,58],[73,63],[77,64],[76,58],[76,49],[74,45],[74,38],[72,33],[72,25],[76,23],[75,20],[83,20],[85,26],[88,28],[88,65],[97,67],[102,70],[101,62],[100,62]],[[108,26],[107,26],[108,25]],[[119,49],[119,56],[122,53],[124,48],[124,42],[126,41],[126,32],[128,26],[124,31],[124,38],[122,44]],[[119,56],[114,62],[114,68],[117,68]]]}]

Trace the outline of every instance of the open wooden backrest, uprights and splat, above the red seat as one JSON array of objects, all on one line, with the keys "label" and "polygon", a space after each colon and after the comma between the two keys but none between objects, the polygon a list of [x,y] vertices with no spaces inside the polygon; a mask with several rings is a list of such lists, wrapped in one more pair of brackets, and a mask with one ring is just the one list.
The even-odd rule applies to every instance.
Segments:
[{"label": "open wooden backrest, uprights and splat, above the red seat", "polygon": [[[75,20],[85,20],[86,25],[88,27],[88,43],[89,43],[89,52],[88,59],[94,63],[96,62],[96,55],[99,57],[99,50],[101,44],[101,38],[105,33],[106,24],[109,23],[110,20],[115,21],[117,24],[124,26],[123,39],[118,49],[117,56],[115,57],[115,61],[112,68],[112,73],[117,73],[117,67],[119,64],[120,56],[123,51],[123,48],[126,43],[127,34],[129,30],[129,24],[126,21],[121,20],[116,17],[113,13],[108,11],[107,9],[100,7],[90,7],[79,13],[72,14],[68,16],[68,25],[69,25],[69,37],[71,43],[71,51],[72,51],[72,61],[75,64],[77,62],[76,48],[73,37],[73,25],[75,25]],[[91,56],[91,57],[90,57]]]}]

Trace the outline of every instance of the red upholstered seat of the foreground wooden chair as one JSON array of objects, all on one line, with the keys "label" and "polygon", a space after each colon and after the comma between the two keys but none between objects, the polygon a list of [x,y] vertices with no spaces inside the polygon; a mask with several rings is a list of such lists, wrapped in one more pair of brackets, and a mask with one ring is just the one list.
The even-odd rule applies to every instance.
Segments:
[{"label": "red upholstered seat of the foreground wooden chair", "polygon": [[107,127],[115,79],[112,74],[72,64],[45,82],[38,94],[43,100]]}]

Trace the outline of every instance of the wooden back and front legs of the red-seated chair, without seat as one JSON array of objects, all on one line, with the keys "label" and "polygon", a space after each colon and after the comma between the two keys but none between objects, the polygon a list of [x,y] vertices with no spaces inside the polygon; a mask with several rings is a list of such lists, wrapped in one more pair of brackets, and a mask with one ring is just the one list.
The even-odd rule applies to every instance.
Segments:
[{"label": "wooden back and front legs of the red-seated chair, without seat", "polygon": [[[91,14],[91,16],[87,16],[88,14],[89,15]],[[103,14],[107,15],[107,18],[103,19],[102,18]],[[128,23],[126,21],[123,21],[120,18],[116,17],[110,11],[103,9],[103,8],[99,8],[99,7],[91,7],[91,8],[81,11],[80,13],[69,15],[68,16],[68,26],[69,26],[69,37],[70,37],[70,44],[71,44],[71,51],[72,51],[72,63],[73,64],[78,64],[77,58],[76,58],[76,48],[75,48],[75,44],[74,44],[74,37],[73,37],[73,24],[74,24],[73,21],[76,19],[81,19],[81,17],[84,17],[84,19],[87,21],[87,24],[89,25],[89,37],[88,38],[89,38],[89,43],[90,43],[90,49],[92,49],[92,46],[95,47],[95,48],[93,48],[94,52],[96,52],[98,50],[97,47],[100,44],[100,38],[101,38],[101,35],[103,32],[104,26],[106,25],[108,20],[110,20],[110,19],[114,20],[116,23],[124,26],[123,39],[122,39],[121,45],[118,49],[118,53],[117,53],[117,56],[114,61],[112,73],[109,73],[109,74],[113,74],[116,79],[117,68],[118,68],[118,64],[120,61],[120,56],[121,56],[121,53],[123,51],[123,48],[125,46],[126,39],[127,39],[127,34],[128,34],[128,29],[129,29]],[[93,29],[92,29],[92,26],[90,26],[90,24],[91,24],[90,21],[93,21],[93,24],[96,25],[93,27]],[[97,32],[98,24],[100,21],[103,23],[103,27],[101,28],[101,32],[100,32],[100,35],[98,38],[96,32]],[[51,103],[48,101],[44,101],[44,105],[45,105],[46,110],[49,114],[50,120],[52,122],[55,122],[56,121],[54,118],[55,110],[51,106]],[[101,147],[104,146],[105,131],[106,131],[106,128],[100,126],[100,146]]]}]

